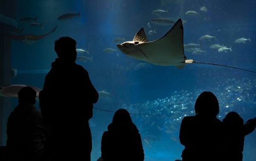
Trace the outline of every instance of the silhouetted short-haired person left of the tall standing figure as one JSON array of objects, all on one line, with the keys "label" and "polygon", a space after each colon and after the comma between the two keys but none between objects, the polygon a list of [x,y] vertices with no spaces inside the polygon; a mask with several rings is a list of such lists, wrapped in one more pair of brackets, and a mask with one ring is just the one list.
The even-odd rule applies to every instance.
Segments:
[{"label": "silhouetted short-haired person left of the tall standing figure", "polygon": [[41,111],[35,108],[36,92],[23,87],[18,92],[19,104],[7,121],[8,161],[42,161],[45,136],[49,130],[42,122]]}]

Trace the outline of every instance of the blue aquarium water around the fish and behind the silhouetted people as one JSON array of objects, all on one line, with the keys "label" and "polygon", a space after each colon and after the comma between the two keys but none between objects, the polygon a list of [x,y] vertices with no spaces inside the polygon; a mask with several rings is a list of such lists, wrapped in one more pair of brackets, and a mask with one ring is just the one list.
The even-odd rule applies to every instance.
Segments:
[{"label": "blue aquarium water around the fish and behind the silhouetted people", "polygon": [[[201,11],[201,6],[206,6],[207,11]],[[179,18],[186,20],[183,24],[184,44],[201,44],[200,49],[206,51],[201,54],[185,51],[187,59],[256,71],[255,6],[254,0],[17,0],[15,20],[17,28],[23,28],[23,34],[41,35],[56,25],[57,28],[33,45],[12,40],[12,68],[17,69],[12,84],[43,88],[47,70],[57,56],[55,40],[70,36],[76,40],[77,48],[89,53],[78,56],[93,56],[92,62],[77,64],[87,69],[94,87],[98,91],[113,91],[112,96],[99,98],[90,120],[92,160],[96,161],[101,156],[101,136],[111,123],[113,112],[119,108],[126,108],[131,113],[141,136],[148,141],[148,144],[143,141],[145,161],[181,159],[184,147],[178,140],[180,121],[185,115],[195,115],[193,107],[197,96],[204,90],[212,91],[220,104],[220,120],[226,113],[236,111],[247,121],[256,116],[256,73],[194,63],[183,69],[151,65],[151,68],[135,70],[142,61],[123,54],[113,40],[122,37],[125,41],[132,41],[140,28],[144,28],[148,41],[163,37],[172,26],[156,25],[149,20],[159,18],[151,14],[153,10],[168,10],[168,13],[160,15],[174,21]],[[62,14],[78,13],[79,10],[81,18],[57,20]],[[185,14],[191,10],[201,16]],[[32,21],[19,21],[23,17],[37,16],[37,22],[44,23],[44,29],[30,27]],[[149,35],[148,32],[155,28],[156,33]],[[199,40],[206,34],[216,39]],[[241,37],[250,38],[251,42],[234,43]],[[209,48],[213,44],[231,47],[232,51],[218,52],[218,49]],[[105,48],[117,50],[119,56],[116,52],[105,53]],[[13,99],[4,119],[16,105],[17,99]],[[173,113],[168,112],[170,108],[173,108]],[[3,130],[5,128],[3,126]],[[167,130],[172,133],[166,133]],[[245,137],[243,154],[244,161],[256,161],[256,131]]]}]

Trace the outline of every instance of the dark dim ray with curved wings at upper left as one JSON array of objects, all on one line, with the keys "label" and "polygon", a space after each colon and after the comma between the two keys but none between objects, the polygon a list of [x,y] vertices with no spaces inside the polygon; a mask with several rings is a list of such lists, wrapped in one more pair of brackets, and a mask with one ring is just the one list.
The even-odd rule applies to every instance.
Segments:
[{"label": "dark dim ray with curved wings at upper left", "polygon": [[11,38],[12,40],[17,40],[17,41],[21,41],[25,44],[32,45],[32,44],[34,44],[35,41],[40,40],[40,39],[46,37],[49,34],[52,34],[56,30],[56,28],[57,28],[57,26],[52,28],[51,31],[49,31],[47,34],[44,34],[44,35],[20,34],[20,33],[11,34],[9,32],[4,32],[4,34],[7,37]]}]

